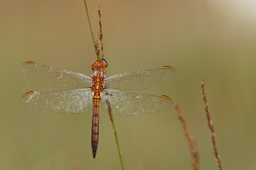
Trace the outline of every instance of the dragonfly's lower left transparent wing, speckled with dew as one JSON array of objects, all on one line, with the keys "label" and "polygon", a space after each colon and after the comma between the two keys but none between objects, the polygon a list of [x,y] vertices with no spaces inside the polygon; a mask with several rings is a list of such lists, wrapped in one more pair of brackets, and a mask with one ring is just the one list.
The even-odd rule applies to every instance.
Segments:
[{"label": "dragonfly's lower left transparent wing, speckled with dew", "polygon": [[66,91],[30,91],[21,97],[21,102],[35,108],[58,113],[81,113],[93,105],[90,88]]}]

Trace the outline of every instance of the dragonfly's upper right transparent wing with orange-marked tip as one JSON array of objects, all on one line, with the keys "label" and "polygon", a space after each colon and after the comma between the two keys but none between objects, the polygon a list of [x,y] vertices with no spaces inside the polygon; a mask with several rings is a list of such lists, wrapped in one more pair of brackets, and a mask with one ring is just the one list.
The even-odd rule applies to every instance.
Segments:
[{"label": "dragonfly's upper right transparent wing with orange-marked tip", "polygon": [[176,69],[169,66],[134,73],[114,74],[105,78],[105,87],[122,90],[145,89],[160,85],[176,75]]}]

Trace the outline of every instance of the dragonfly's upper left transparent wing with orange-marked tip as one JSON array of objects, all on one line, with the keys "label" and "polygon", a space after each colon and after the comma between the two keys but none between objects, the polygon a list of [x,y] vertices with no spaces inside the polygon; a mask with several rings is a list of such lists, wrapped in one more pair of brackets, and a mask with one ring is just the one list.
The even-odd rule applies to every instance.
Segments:
[{"label": "dragonfly's upper left transparent wing with orange-marked tip", "polygon": [[20,68],[33,79],[60,88],[87,88],[92,82],[92,78],[86,74],[59,70],[36,62],[24,62]]}]

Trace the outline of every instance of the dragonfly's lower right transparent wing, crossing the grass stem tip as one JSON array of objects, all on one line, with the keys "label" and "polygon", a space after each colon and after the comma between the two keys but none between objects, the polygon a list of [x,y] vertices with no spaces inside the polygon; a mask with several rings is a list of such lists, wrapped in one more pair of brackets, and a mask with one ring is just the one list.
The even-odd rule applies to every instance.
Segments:
[{"label": "dragonfly's lower right transparent wing, crossing the grass stem tip", "polygon": [[106,100],[110,102],[113,114],[123,116],[164,111],[174,105],[173,100],[167,96],[133,94],[112,89],[105,89],[102,93],[101,106],[108,111]]}]

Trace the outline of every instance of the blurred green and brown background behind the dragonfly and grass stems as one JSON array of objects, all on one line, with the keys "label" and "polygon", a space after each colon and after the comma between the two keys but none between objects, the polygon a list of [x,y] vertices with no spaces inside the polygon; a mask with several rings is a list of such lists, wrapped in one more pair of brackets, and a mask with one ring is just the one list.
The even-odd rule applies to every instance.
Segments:
[{"label": "blurred green and brown background behind the dragonfly and grass stems", "polygon": [[[134,93],[160,94],[180,105],[196,140],[202,170],[218,169],[204,113],[205,90],[224,169],[256,167],[256,1],[87,0],[98,40],[102,10],[107,76],[169,65],[177,76]],[[96,59],[83,0],[0,2],[0,169],[119,170],[108,113],[101,111],[96,159],[92,110],[61,114],[20,102],[32,90],[59,90],[24,76],[35,61],[91,75]],[[63,90],[63,89],[62,89]],[[114,115],[127,170],[189,170],[183,128],[172,108]]]}]

